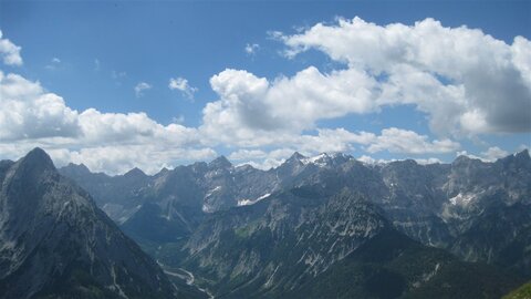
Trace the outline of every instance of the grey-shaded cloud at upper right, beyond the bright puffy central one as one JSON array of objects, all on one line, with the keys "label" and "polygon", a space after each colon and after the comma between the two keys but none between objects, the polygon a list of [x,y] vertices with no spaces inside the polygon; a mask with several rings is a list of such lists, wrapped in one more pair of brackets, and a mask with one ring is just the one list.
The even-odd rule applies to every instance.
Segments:
[{"label": "grey-shaded cloud at upper right, beyond the bright puffy central one", "polygon": [[287,55],[324,52],[378,79],[378,105],[415,104],[440,135],[531,131],[531,47],[426,19],[385,27],[360,18],[281,35]]}]

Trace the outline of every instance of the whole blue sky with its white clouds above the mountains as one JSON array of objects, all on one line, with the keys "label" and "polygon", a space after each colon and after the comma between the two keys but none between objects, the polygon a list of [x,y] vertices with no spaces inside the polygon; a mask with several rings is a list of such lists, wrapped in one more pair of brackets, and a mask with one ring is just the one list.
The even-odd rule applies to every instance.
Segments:
[{"label": "whole blue sky with its white clouds above the mountains", "polygon": [[148,174],[531,146],[530,1],[0,0],[0,159]]}]

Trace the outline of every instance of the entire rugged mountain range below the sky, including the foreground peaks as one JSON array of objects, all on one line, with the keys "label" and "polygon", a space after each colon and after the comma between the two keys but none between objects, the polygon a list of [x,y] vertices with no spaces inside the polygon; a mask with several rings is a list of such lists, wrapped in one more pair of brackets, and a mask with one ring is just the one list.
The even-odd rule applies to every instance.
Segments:
[{"label": "entire rugged mountain range below the sky, including the foreground peaks", "polygon": [[0,182],[0,298],[500,298],[531,278],[528,151],[108,176],[35,148]]}]

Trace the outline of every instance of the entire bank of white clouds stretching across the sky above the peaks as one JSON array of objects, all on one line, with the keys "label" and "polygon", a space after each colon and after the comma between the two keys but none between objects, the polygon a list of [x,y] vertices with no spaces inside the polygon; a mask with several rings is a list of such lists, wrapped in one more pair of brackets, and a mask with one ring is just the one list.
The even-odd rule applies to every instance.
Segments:
[{"label": "entire bank of white clouds stretching across the sky above the peaks", "polygon": [[[377,25],[354,18],[274,38],[288,59],[316,50],[342,66],[329,72],[309,66],[274,79],[226,69],[210,78],[218,99],[205,105],[198,127],[163,125],[142,112],[80,112],[39,82],[0,71],[1,158],[17,158],[37,145],[59,164],[84,163],[111,174],[139,166],[154,173],[211,158],[221,146],[230,148],[235,162],[262,168],[293,151],[356,152],[366,161],[388,152],[429,163],[438,159],[425,155],[456,153],[462,138],[531,131],[531,43],[522,37],[508,44],[433,19]],[[19,52],[0,35],[4,64],[21,64]],[[149,87],[140,82],[135,93],[142,96]],[[197,91],[184,78],[170,79],[168,87],[190,100]],[[398,105],[424,113],[430,134],[317,125]],[[486,159],[504,154],[496,146],[481,153]]]}]

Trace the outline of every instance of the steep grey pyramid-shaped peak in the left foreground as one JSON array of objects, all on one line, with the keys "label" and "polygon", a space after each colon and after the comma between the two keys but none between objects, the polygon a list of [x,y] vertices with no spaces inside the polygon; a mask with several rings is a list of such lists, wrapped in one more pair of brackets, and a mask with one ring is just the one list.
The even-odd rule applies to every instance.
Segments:
[{"label": "steep grey pyramid-shaped peak in the left foreground", "polygon": [[158,266],[40,148],[0,163],[0,298],[174,298]]}]

